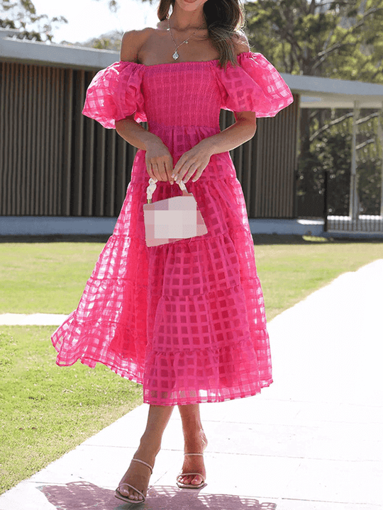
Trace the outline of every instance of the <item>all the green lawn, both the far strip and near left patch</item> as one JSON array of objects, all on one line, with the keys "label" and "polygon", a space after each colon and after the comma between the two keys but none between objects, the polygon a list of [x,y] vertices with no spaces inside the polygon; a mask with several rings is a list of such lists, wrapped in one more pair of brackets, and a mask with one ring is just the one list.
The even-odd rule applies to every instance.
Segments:
[{"label": "all the green lawn, both the far strip and near left patch", "polygon": [[[72,312],[108,237],[0,242],[0,313]],[[382,258],[381,242],[255,237],[267,319]],[[143,402],[140,385],[103,365],[57,367],[56,328],[0,326],[0,493]]]}]

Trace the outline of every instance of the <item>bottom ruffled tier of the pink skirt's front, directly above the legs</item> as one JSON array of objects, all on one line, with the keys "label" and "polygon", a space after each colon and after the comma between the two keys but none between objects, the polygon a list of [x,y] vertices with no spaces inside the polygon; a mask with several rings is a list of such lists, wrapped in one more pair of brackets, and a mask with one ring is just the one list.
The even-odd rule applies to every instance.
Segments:
[{"label": "bottom ruffled tier of the pink skirt's front, directly above the legs", "polygon": [[[257,350],[255,349],[257,346]],[[260,346],[263,345],[263,349]],[[265,329],[231,344],[148,353],[144,395],[153,404],[189,402],[196,397],[233,398],[259,391],[271,379]],[[262,361],[262,363],[261,363]],[[235,395],[235,396],[234,396]]]}]

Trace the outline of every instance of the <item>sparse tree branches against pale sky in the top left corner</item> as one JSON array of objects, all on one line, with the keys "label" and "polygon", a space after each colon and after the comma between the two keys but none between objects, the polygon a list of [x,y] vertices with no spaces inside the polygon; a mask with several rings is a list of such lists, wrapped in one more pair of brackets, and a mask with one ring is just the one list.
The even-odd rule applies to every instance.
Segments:
[{"label": "sparse tree branches against pale sky in the top left corner", "polygon": [[41,26],[46,14],[38,15],[31,0],[1,0],[0,27],[19,30],[17,38],[52,42],[52,23],[68,23],[64,16],[55,16]]}]

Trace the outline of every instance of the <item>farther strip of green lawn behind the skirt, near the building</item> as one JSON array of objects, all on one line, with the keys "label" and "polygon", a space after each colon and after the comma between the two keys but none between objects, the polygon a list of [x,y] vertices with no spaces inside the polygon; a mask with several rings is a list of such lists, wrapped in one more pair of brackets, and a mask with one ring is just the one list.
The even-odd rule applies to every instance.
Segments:
[{"label": "farther strip of green lawn behind the skirt, near the building", "polygon": [[[109,236],[101,238],[0,242],[0,313],[70,314]],[[383,258],[382,242],[299,236],[257,236],[254,250],[269,320],[341,273]]]}]

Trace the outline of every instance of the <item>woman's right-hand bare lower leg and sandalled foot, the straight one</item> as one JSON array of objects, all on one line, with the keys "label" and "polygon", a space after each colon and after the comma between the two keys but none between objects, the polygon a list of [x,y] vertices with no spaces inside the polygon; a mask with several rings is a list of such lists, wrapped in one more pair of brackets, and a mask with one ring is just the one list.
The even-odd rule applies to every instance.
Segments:
[{"label": "woman's right-hand bare lower leg and sandalled foot, the straight one", "polygon": [[[207,439],[202,428],[199,404],[179,405],[178,409],[184,432],[184,453],[202,453],[207,446]],[[182,472],[200,472],[206,478],[204,458],[201,455],[186,455]],[[200,476],[194,475],[182,477],[179,481],[198,485],[202,480]]]}]

